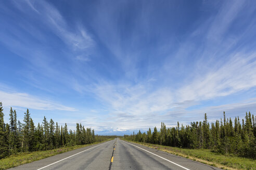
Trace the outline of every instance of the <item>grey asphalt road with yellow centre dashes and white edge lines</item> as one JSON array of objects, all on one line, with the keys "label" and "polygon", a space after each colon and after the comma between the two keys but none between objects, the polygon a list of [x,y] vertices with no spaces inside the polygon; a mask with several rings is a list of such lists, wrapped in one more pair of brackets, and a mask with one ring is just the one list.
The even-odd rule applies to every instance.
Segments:
[{"label": "grey asphalt road with yellow centre dashes and white edge lines", "polygon": [[114,139],[53,157],[17,166],[11,169],[175,169],[213,170],[213,166],[148,148],[138,144]]}]

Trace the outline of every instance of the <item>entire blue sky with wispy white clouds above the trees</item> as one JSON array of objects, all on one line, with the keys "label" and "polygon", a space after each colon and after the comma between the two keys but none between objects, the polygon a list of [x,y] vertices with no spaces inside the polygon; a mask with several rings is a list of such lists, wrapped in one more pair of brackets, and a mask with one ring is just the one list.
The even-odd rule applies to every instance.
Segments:
[{"label": "entire blue sky with wispy white clouds above the trees", "polygon": [[0,101],[124,134],[256,111],[255,1],[0,1]]}]

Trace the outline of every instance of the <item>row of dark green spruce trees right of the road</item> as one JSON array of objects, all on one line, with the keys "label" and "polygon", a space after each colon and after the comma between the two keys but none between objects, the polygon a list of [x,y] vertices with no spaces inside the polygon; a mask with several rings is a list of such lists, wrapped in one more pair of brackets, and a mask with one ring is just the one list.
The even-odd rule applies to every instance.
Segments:
[{"label": "row of dark green spruce trees right of the road", "polygon": [[234,154],[241,157],[256,158],[256,120],[254,116],[246,112],[245,119],[240,122],[236,117],[234,122],[231,118],[209,123],[207,114],[204,120],[191,122],[190,125],[167,128],[161,123],[160,131],[157,127],[144,133],[124,135],[125,139],[144,143],[159,144],[172,147],[189,149],[211,149],[213,152],[222,154]]}]

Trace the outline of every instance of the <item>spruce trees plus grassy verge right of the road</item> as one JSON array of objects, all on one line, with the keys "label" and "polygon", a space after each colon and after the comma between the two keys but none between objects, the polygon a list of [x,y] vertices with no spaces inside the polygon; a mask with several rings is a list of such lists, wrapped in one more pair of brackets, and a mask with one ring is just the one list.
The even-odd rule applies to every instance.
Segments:
[{"label": "spruce trees plus grassy verge right of the road", "polygon": [[149,128],[147,133],[139,131],[124,135],[124,139],[163,146],[160,148],[238,169],[256,167],[256,121],[250,112],[246,112],[241,123],[239,117],[233,122],[224,112],[223,120],[210,125],[204,114],[203,122],[191,122],[186,126],[177,122],[176,127],[169,128],[162,123],[160,131],[155,127],[151,132]]}]

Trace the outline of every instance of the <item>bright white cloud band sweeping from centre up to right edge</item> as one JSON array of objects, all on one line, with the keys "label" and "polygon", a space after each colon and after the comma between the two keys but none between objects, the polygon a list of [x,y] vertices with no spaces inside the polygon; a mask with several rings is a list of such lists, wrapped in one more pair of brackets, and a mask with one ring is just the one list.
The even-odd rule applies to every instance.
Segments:
[{"label": "bright white cloud band sweeping from centre up to right edge", "polygon": [[110,83],[94,85],[91,92],[101,102],[110,105],[113,111],[134,115],[160,113],[180,106],[190,107],[201,101],[256,87],[256,54],[234,55],[222,66],[189,79],[189,83],[175,90],[170,87],[152,88],[145,83],[134,86]]}]

